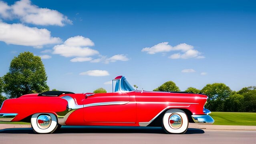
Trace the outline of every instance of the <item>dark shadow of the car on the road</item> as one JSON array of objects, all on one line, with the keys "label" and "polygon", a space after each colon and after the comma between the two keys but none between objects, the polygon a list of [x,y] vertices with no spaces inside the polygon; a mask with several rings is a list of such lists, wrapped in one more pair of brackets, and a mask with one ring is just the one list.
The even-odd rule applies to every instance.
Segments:
[{"label": "dark shadow of the car on the road", "polygon": [[[7,134],[34,134],[32,128],[8,128],[0,130]],[[62,133],[151,133],[165,134],[161,127],[128,127],[128,126],[62,126],[55,134]],[[185,134],[203,134],[204,130],[188,128]]]}]

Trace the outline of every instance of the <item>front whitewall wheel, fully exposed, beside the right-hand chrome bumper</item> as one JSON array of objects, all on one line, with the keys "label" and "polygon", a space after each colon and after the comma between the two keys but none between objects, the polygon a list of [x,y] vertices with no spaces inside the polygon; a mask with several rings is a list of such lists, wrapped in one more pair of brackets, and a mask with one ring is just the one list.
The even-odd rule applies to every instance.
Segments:
[{"label": "front whitewall wheel, fully exposed, beside the right-hand chrome bumper", "polygon": [[188,128],[187,115],[183,110],[167,110],[163,116],[162,127],[167,134],[184,134]]}]

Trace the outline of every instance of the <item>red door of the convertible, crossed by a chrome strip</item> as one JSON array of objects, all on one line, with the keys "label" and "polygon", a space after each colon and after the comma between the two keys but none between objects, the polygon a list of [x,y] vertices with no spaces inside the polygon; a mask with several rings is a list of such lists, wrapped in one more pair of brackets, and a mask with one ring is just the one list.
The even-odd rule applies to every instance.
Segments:
[{"label": "red door of the convertible, crossed by a chrome strip", "polygon": [[94,94],[84,100],[85,122],[135,123],[135,96],[128,93]]}]

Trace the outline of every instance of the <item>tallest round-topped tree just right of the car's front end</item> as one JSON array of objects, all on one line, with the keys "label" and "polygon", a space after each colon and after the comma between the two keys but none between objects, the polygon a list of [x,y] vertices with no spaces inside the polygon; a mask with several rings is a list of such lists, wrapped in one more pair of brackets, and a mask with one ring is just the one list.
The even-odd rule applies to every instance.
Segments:
[{"label": "tallest round-topped tree just right of the car's front end", "polygon": [[206,108],[213,112],[222,112],[224,111],[224,100],[228,98],[234,92],[230,87],[226,86],[223,83],[214,83],[207,84],[202,90],[201,93],[204,93],[208,96]]}]

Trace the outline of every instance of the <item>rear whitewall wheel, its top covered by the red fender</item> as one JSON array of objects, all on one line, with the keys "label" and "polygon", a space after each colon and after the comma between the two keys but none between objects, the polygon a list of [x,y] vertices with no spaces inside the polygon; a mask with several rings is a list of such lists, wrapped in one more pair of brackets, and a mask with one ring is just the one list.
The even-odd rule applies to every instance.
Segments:
[{"label": "rear whitewall wheel, its top covered by the red fender", "polygon": [[54,114],[37,113],[31,117],[31,126],[38,134],[50,134],[58,128],[58,121]]}]

